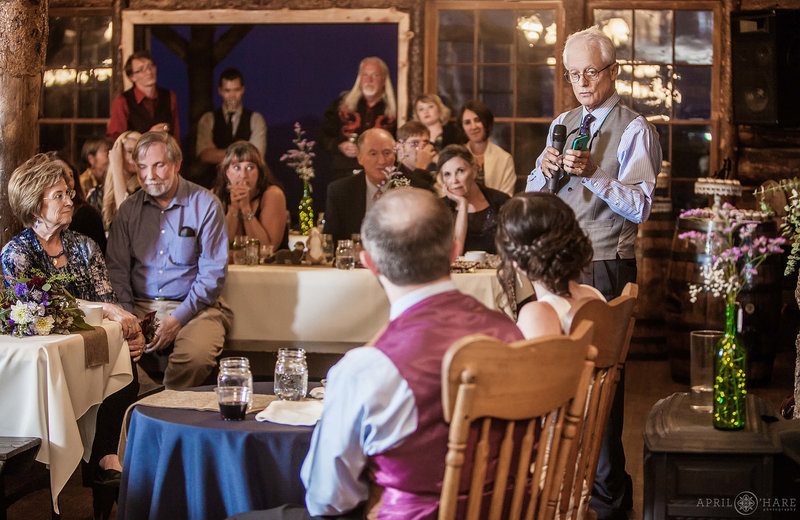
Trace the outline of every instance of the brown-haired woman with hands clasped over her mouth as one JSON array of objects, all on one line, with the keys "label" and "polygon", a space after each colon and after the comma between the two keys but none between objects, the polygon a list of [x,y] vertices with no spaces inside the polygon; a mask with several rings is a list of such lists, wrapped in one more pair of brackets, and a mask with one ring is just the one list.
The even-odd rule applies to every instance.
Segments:
[{"label": "brown-haired woman with hands clasped over her mouth", "polygon": [[219,164],[214,193],[222,200],[228,238],[247,235],[261,245],[282,247],[286,237],[286,196],[258,148],[247,141],[228,147]]}]

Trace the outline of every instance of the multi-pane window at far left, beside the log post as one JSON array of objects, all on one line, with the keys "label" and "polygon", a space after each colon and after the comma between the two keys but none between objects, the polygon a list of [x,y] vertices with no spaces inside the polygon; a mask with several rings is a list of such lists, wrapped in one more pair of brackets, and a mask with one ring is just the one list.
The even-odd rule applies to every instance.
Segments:
[{"label": "multi-pane window at far left, beside the log post", "polygon": [[50,18],[39,114],[39,148],[73,161],[105,134],[110,111],[111,17]]}]

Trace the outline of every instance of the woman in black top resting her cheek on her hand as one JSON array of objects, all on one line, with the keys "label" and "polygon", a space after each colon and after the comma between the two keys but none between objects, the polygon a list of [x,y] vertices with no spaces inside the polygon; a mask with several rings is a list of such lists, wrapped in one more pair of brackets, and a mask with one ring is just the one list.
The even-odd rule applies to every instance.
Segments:
[{"label": "woman in black top resting her cheek on her hand", "polygon": [[465,251],[494,253],[497,215],[508,195],[475,182],[477,165],[465,146],[445,146],[436,165],[443,200],[455,214],[455,239]]}]

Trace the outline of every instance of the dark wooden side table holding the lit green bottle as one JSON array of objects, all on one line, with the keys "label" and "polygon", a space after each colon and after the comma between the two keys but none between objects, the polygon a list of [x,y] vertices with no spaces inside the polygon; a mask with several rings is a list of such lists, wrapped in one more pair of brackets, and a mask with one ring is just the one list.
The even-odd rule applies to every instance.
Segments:
[{"label": "dark wooden side table holding the lit green bottle", "polygon": [[[644,429],[644,518],[783,518],[759,507],[774,493],[781,443],[769,424],[780,421],[760,398],[747,396],[740,431],[717,430],[710,413],[693,411],[689,394],[657,402]],[[753,500],[756,501],[753,505]],[[742,515],[741,518],[746,516]]]}]

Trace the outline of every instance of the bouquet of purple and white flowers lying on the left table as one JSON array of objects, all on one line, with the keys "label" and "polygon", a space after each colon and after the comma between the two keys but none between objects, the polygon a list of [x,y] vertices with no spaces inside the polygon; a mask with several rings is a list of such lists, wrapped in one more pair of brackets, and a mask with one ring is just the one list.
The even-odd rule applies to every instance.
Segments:
[{"label": "bouquet of purple and white flowers lying on the left table", "polygon": [[73,279],[66,274],[44,278],[38,270],[30,278],[18,278],[0,293],[0,332],[24,337],[91,329],[75,297],[62,285]]}]

